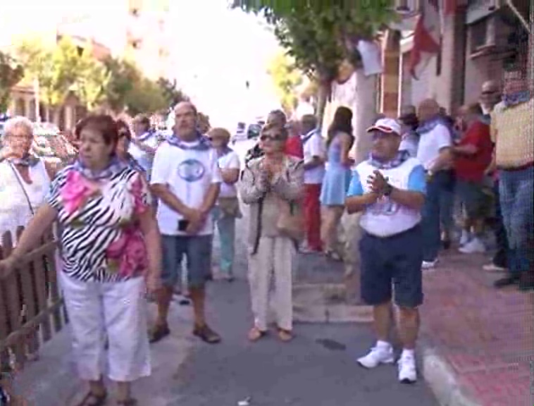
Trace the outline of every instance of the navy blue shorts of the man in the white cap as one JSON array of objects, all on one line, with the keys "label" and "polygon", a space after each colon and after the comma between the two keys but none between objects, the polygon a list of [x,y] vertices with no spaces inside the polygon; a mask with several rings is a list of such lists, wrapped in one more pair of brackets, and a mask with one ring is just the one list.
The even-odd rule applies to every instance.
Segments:
[{"label": "navy blue shorts of the man in the white cap", "polygon": [[360,240],[361,298],[372,306],[389,302],[415,308],[423,303],[421,226],[392,235],[364,233]]}]

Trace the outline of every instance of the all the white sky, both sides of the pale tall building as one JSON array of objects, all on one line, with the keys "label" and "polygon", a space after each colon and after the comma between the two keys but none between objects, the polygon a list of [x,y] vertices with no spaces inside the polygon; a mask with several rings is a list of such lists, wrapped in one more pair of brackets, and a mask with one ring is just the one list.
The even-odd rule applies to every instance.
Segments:
[{"label": "all the white sky, both sides of the pale tall building", "polygon": [[[114,12],[125,1],[2,1],[0,27],[20,37],[62,16],[98,12],[98,31],[104,35],[117,25]],[[13,18],[13,13],[21,18]],[[1,32],[0,45],[10,40]],[[212,123],[251,121],[278,107],[266,74],[278,44],[259,18],[230,10],[227,0],[170,0],[168,33],[173,75]]]}]

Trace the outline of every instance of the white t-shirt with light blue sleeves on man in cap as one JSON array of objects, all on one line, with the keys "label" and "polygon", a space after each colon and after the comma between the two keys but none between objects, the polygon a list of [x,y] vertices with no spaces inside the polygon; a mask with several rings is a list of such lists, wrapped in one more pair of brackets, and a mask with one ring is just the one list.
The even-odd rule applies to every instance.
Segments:
[{"label": "white t-shirt with light blue sleeves on man in cap", "polygon": [[[364,161],[354,169],[347,196],[362,196],[371,192],[367,179],[376,170],[369,161]],[[426,194],[426,174],[421,163],[415,158],[406,159],[396,168],[380,169],[388,183],[401,190],[412,190]],[[421,211],[410,209],[395,202],[390,197],[380,197],[377,202],[366,207],[360,218],[360,226],[376,237],[390,237],[414,228],[421,222]]]}]

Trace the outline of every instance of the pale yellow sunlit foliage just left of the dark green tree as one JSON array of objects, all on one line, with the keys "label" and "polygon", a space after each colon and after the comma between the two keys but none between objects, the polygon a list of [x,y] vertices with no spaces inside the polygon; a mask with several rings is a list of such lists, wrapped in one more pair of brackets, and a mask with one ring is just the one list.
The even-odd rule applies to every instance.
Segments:
[{"label": "pale yellow sunlit foliage just left of the dark green tree", "polygon": [[302,72],[295,68],[294,60],[280,52],[268,67],[280,104],[285,111],[292,111],[297,104],[297,87],[302,84]]}]

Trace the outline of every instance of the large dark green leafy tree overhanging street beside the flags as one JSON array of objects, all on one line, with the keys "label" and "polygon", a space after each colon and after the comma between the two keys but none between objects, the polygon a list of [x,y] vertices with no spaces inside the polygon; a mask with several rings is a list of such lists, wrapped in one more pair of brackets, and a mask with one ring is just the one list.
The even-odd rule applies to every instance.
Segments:
[{"label": "large dark green leafy tree overhanging street beside the flags", "polygon": [[318,116],[323,114],[330,82],[344,59],[356,66],[359,39],[373,39],[395,18],[393,0],[235,0],[233,7],[259,14],[297,68],[318,80]]}]

